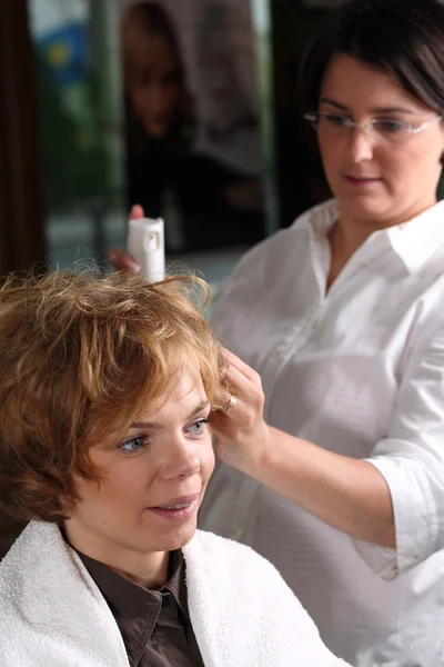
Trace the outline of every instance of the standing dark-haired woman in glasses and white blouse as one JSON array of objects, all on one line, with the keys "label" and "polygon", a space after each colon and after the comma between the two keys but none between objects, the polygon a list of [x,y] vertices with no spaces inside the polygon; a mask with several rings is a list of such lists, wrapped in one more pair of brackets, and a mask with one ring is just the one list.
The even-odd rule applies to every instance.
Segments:
[{"label": "standing dark-haired woman in glasses and white blouse", "polygon": [[444,6],[352,0],[327,14],[300,84],[334,200],[251,250],[215,305],[243,361],[229,355],[235,397],[213,422],[224,462],[201,526],[271,560],[349,663],[435,667]]}]

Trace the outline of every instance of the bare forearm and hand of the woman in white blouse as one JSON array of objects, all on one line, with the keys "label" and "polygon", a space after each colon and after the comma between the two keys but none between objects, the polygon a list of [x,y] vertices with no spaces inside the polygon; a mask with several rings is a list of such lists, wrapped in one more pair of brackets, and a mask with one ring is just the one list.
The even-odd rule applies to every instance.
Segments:
[{"label": "bare forearm and hand of the woman in white blouse", "polygon": [[391,494],[369,461],[327,451],[268,426],[259,375],[226,352],[228,380],[238,396],[215,415],[220,458],[350,536],[395,548]]}]

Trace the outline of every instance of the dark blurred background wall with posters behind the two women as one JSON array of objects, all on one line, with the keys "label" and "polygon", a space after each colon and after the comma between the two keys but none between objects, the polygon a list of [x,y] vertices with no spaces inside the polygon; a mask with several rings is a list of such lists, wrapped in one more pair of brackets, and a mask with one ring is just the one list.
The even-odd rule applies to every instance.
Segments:
[{"label": "dark blurred background wall with posters behind the two women", "polygon": [[335,0],[14,0],[0,8],[0,273],[125,243],[132,203],[218,285],[329,197],[296,70]]}]

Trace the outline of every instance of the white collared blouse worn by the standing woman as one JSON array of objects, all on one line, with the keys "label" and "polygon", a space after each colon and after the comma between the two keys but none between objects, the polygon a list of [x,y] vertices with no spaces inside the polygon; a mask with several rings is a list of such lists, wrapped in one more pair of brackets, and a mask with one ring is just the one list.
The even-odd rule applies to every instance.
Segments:
[{"label": "white collared blouse worn by the standing woman", "polygon": [[325,293],[334,201],[253,248],[214,306],[272,426],[366,458],[396,550],[353,540],[220,464],[201,526],[269,558],[356,667],[444,664],[444,202],[375,231]]}]

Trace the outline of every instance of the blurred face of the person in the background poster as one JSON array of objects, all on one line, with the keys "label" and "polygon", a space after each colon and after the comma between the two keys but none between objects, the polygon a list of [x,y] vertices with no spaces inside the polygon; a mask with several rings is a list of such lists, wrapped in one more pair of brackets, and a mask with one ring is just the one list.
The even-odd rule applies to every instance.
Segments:
[{"label": "blurred face of the person in the background poster", "polygon": [[127,94],[149,137],[170,130],[179,100],[178,62],[168,42],[132,23],[123,28]]}]

